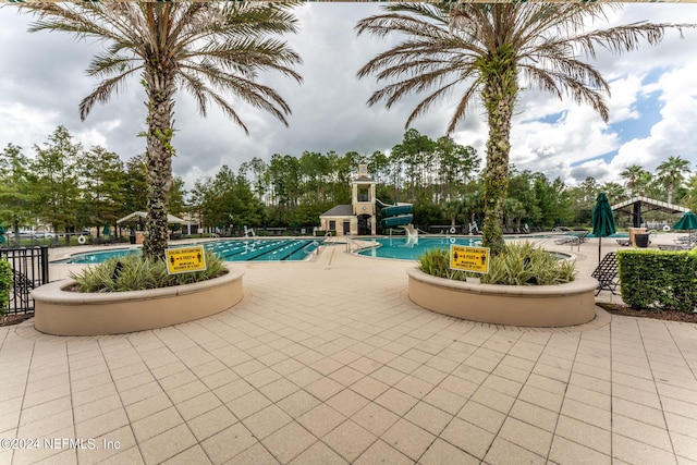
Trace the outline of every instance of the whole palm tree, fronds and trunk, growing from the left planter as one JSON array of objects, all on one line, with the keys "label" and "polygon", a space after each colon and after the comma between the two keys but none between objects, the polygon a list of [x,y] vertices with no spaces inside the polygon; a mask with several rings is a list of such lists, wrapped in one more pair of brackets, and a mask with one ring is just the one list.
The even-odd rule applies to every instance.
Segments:
[{"label": "whole palm tree, fronds and trunk, growing from the left planter", "polygon": [[80,103],[84,120],[139,73],[147,96],[147,238],[144,256],[164,258],[167,213],[172,185],[174,95],[192,94],[203,117],[216,103],[248,134],[227,94],[266,110],[288,125],[291,109],[272,88],[256,82],[258,72],[302,77],[290,66],[301,58],[278,38],[295,33],[289,4],[266,2],[81,2],[23,3],[37,16],[30,32],[59,30],[96,38],[105,50],[87,74],[101,78]]}]

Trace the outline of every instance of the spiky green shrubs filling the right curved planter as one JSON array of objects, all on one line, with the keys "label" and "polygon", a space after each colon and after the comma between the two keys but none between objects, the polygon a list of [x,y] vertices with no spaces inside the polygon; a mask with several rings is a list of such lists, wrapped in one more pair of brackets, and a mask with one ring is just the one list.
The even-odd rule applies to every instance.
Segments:
[{"label": "spiky green shrubs filling the right curved planter", "polygon": [[427,274],[458,281],[480,278],[484,284],[562,284],[574,280],[575,268],[575,261],[558,260],[528,242],[509,244],[502,254],[491,257],[487,274],[452,270],[450,252],[444,248],[433,248],[419,257],[419,269]]}]

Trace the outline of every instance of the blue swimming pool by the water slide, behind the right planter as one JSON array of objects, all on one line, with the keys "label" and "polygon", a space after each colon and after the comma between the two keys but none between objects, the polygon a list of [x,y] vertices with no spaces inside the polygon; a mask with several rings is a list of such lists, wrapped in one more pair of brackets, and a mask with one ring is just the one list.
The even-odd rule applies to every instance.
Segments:
[{"label": "blue swimming pool by the water slide, behind the right planter", "polygon": [[[515,237],[505,237],[506,241],[546,241],[549,236],[545,235],[525,235]],[[398,237],[376,237],[371,241],[378,243],[378,246],[358,250],[358,255],[365,257],[392,258],[399,260],[418,260],[418,257],[431,248],[450,248],[451,244],[462,246],[480,246],[481,237],[462,237],[462,236],[423,236],[412,240],[404,236]],[[568,258],[571,255],[557,254],[560,258]]]}]

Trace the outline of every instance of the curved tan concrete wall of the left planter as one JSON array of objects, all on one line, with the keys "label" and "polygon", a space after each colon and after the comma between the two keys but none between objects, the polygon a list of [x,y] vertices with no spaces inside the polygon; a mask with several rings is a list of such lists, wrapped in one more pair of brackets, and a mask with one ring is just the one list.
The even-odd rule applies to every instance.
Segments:
[{"label": "curved tan concrete wall of the left planter", "polygon": [[34,326],[56,335],[122,334],[183,323],[225,310],[242,299],[241,270],[194,284],[150,291],[80,293],[72,280],[32,292]]}]

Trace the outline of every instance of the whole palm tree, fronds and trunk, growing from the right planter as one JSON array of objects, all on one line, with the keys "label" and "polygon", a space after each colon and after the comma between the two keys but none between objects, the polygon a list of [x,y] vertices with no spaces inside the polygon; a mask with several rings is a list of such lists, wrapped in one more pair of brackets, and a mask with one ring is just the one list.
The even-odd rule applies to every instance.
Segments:
[{"label": "whole palm tree, fronds and trunk, growing from the right planter", "polygon": [[[384,37],[402,33],[407,39],[378,54],[358,76],[375,74],[388,84],[368,100],[392,107],[409,93],[428,93],[406,120],[406,126],[436,101],[464,86],[447,129],[450,134],[478,97],[487,112],[489,136],[485,182],[484,244],[504,249],[501,221],[509,179],[511,119],[523,86],[572,96],[589,103],[608,121],[608,83],[577,57],[595,58],[598,47],[612,52],[635,50],[641,39],[658,44],[669,27],[634,23],[592,32],[589,21],[603,20],[597,3],[399,3],[386,13],[362,20],[358,34]],[[612,7],[610,7],[612,8]],[[616,7],[615,7],[616,8]],[[431,90],[433,89],[435,90]]]}]

